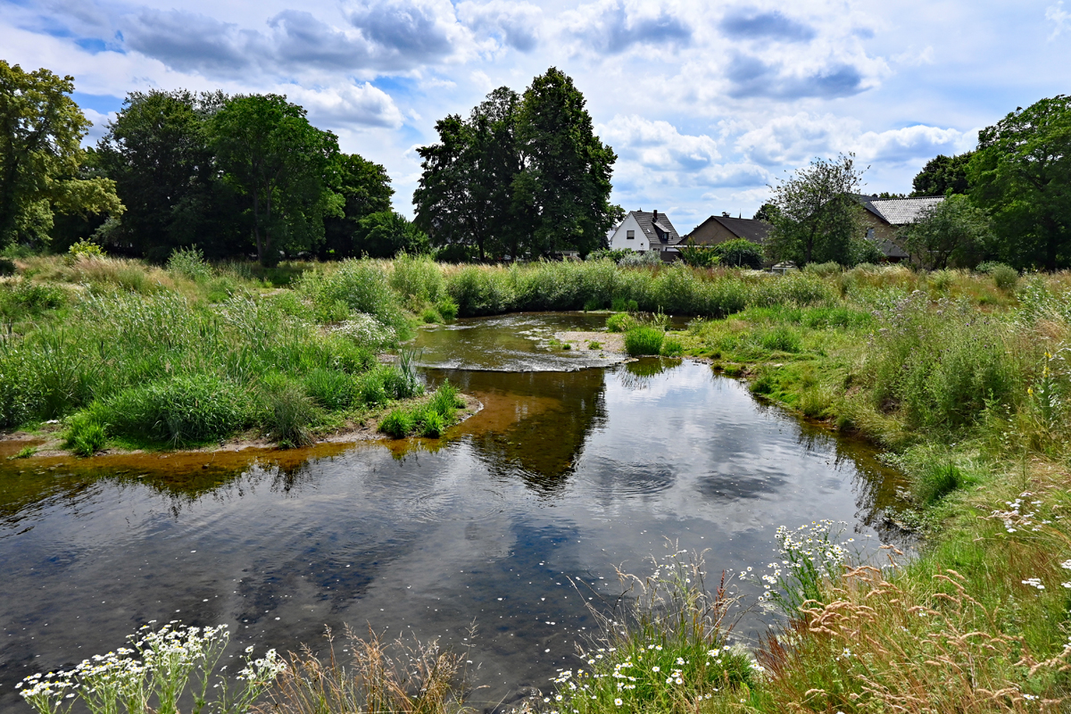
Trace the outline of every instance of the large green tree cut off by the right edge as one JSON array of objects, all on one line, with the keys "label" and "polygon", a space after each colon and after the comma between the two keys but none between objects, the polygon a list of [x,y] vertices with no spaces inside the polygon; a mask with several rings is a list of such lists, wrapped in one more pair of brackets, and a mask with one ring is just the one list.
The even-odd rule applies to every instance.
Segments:
[{"label": "large green tree cut off by the right edge", "polygon": [[1006,262],[1071,264],[1071,97],[1041,100],[979,132],[968,176]]}]

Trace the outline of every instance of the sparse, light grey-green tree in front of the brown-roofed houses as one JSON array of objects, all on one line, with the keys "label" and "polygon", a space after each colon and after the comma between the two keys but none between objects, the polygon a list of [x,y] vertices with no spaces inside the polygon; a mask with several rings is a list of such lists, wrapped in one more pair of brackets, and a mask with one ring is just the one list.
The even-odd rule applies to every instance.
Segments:
[{"label": "sparse, light grey-green tree in front of the brown-roofed houses", "polygon": [[767,247],[776,260],[804,265],[853,264],[862,237],[862,207],[856,199],[863,170],[854,154],[816,158],[773,186],[772,229]]}]

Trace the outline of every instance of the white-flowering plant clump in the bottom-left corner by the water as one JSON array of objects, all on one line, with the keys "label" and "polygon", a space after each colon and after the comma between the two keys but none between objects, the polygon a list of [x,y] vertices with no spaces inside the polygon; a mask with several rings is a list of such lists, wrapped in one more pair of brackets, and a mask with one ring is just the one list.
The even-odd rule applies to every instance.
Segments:
[{"label": "white-flowering plant clump in the bottom-left corner by the water", "polygon": [[[286,668],[274,650],[253,658],[248,647],[238,684],[220,674],[212,685],[212,672],[230,641],[226,625],[150,625],[127,637],[131,647],[93,655],[67,671],[31,674],[16,685],[19,694],[41,714],[66,714],[78,701],[91,714],[179,714],[179,700],[188,690],[192,714],[206,708],[244,714]],[[211,689],[218,696],[210,702]]]}]

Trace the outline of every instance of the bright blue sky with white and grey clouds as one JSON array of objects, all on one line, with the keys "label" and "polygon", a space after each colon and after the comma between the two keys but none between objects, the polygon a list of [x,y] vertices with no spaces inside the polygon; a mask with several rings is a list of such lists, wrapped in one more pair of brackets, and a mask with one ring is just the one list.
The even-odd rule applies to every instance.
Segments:
[{"label": "bright blue sky with white and grey clouds", "polygon": [[386,166],[408,216],[435,122],[557,66],[618,155],[612,201],[684,233],[841,152],[866,192],[910,192],[1071,90],[1068,2],[0,0],[0,59],[73,75],[87,143],[132,91],[286,94]]}]

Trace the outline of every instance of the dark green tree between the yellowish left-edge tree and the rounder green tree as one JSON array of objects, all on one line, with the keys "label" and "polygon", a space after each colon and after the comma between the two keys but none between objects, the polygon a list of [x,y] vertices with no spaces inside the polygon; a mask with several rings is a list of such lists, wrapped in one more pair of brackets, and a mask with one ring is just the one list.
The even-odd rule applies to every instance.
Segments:
[{"label": "dark green tree between the yellowish left-edge tree and the rounder green tree", "polygon": [[215,108],[215,95],[186,90],[127,95],[97,142],[99,165],[126,206],[112,241],[160,261],[195,243],[209,255],[239,250],[239,208],[217,180],[210,146]]}]

